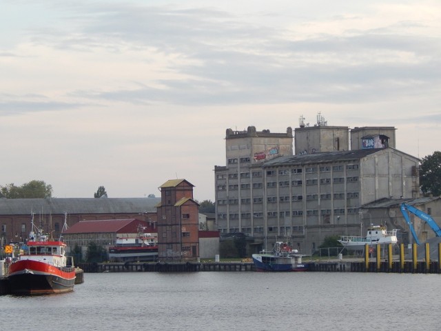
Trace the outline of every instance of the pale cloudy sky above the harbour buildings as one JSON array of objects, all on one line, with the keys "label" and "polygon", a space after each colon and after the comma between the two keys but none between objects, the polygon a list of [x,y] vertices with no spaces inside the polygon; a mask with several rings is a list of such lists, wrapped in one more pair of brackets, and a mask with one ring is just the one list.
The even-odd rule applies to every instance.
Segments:
[{"label": "pale cloudy sky above the harbour buildings", "polygon": [[0,1],[0,185],[214,201],[225,130],[394,126],[441,150],[441,2]]}]

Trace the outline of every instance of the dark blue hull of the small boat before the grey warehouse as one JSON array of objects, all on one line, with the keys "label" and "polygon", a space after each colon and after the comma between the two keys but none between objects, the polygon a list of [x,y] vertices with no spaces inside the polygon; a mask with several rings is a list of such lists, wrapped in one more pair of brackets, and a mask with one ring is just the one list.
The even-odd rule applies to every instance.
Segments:
[{"label": "dark blue hull of the small boat before the grey warehouse", "polygon": [[296,263],[294,258],[280,258],[271,255],[253,254],[252,255],[256,271],[261,272],[291,272],[307,271],[307,263]]}]

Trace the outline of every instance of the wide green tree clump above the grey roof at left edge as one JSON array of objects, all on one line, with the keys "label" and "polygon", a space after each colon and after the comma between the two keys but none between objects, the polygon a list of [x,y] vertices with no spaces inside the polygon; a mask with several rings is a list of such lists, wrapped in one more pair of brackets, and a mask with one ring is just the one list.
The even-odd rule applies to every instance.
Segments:
[{"label": "wide green tree clump above the grey roof at left edge", "polygon": [[21,186],[14,183],[0,186],[1,196],[7,199],[41,199],[52,197],[52,185],[44,181],[30,181]]}]

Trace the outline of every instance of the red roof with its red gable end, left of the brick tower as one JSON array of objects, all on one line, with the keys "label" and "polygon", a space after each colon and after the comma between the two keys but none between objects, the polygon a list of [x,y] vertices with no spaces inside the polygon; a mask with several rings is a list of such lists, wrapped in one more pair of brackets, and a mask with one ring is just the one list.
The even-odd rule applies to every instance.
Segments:
[{"label": "red roof with its red gable end, left of the brick tower", "polygon": [[[149,225],[149,223],[147,223],[146,221],[141,221],[139,219],[100,219],[97,221],[79,221],[63,233],[131,233],[136,232],[139,224],[145,227],[143,232],[157,232],[152,226]],[[127,227],[127,225],[132,226]]]}]

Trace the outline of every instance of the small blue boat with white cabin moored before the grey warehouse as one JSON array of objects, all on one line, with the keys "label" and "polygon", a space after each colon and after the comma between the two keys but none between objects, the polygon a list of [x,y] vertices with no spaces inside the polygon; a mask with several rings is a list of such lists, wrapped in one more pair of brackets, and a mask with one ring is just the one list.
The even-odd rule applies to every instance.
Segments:
[{"label": "small blue boat with white cabin moored before the grey warehouse", "polygon": [[302,257],[297,250],[291,249],[288,243],[276,241],[271,251],[261,251],[252,254],[257,271],[306,271],[307,263],[302,263]]}]

